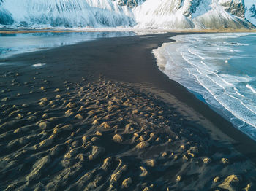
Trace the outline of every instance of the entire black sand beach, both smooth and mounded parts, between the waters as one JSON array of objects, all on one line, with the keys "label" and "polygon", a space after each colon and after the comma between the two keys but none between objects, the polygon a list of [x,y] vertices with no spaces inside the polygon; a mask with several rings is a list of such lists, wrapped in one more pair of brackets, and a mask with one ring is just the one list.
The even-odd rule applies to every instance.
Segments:
[{"label": "entire black sand beach, both smooth and mounded parts, between the waters", "polygon": [[255,190],[255,142],[157,69],[174,35],[0,60],[0,190]]}]

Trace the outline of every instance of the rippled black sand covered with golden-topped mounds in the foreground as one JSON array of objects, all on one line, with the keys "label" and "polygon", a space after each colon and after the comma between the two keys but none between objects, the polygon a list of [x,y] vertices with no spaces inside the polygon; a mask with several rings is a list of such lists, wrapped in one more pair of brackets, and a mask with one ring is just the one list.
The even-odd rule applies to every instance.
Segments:
[{"label": "rippled black sand covered with golden-topped mounds in the foreground", "polygon": [[157,95],[83,80],[52,92],[30,104],[1,100],[0,190],[241,190],[256,182],[246,157]]}]

